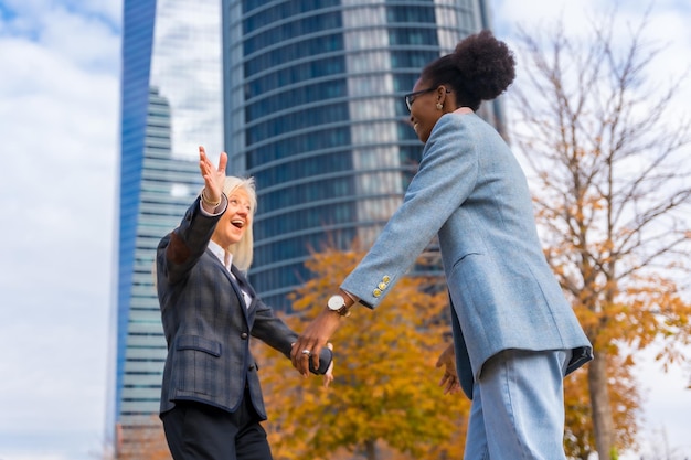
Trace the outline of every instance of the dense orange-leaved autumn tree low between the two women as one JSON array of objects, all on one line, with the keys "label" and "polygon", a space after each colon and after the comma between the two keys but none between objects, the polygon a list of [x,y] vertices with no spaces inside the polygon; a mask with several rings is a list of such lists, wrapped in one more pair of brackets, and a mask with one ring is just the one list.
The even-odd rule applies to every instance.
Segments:
[{"label": "dense orange-leaved autumn tree low between the two women", "polygon": [[[363,253],[327,249],[307,263],[315,277],[297,292],[296,331],[326,306]],[[469,400],[444,395],[436,360],[450,340],[446,291],[401,279],[375,310],[352,309],[332,336],[336,379],[304,379],[283,355],[256,346],[277,460],[460,458]],[[357,457],[353,457],[357,456]]]}]

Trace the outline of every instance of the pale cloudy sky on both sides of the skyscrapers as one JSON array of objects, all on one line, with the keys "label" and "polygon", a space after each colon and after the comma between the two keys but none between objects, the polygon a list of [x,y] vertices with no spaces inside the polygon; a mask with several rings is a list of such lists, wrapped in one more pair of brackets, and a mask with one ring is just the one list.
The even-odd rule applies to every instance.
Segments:
[{"label": "pale cloudy sky on both sides of the skyscrapers", "polygon": [[[634,20],[652,7],[661,75],[691,66],[691,2],[621,3]],[[560,17],[581,33],[612,2],[491,6],[511,45],[518,25]],[[108,441],[121,8],[0,0],[0,460],[93,460]],[[691,110],[690,86],[679,110]],[[663,374],[648,353],[637,376],[642,447],[621,460],[691,458],[689,367]]]}]

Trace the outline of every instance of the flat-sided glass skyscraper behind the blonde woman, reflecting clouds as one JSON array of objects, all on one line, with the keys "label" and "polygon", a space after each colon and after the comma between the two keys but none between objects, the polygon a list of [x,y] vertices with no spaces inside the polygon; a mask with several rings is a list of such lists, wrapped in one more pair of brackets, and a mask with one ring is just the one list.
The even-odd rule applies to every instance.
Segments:
[{"label": "flat-sided glass skyscraper behind the blonde woman, reflecting clouds", "polygon": [[[108,429],[158,414],[166,359],[153,259],[202,182],[198,146],[223,145],[217,0],[125,0],[115,378]],[[116,435],[117,436],[117,435]]]}]

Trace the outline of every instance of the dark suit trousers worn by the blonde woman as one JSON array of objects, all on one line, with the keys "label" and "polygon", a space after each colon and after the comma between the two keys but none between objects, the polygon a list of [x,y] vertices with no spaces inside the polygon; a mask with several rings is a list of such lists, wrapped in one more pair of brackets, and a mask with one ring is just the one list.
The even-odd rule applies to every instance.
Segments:
[{"label": "dark suit trousers worn by the blonde woman", "polygon": [[247,392],[235,413],[179,400],[161,419],[174,460],[273,460]]}]

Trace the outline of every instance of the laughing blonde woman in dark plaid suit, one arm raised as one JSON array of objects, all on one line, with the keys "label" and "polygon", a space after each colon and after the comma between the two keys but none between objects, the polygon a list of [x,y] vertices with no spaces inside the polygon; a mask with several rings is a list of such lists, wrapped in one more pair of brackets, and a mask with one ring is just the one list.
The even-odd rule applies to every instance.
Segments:
[{"label": "laughing blonde woman in dark plaid suit, one arm raised", "polygon": [[[290,356],[297,333],[275,317],[244,272],[252,264],[252,179],[225,175],[199,149],[204,189],[157,252],[168,357],[160,417],[176,460],[270,460],[266,410],[251,336]],[[331,351],[312,373],[331,375]]]}]

